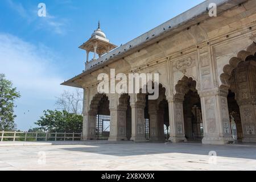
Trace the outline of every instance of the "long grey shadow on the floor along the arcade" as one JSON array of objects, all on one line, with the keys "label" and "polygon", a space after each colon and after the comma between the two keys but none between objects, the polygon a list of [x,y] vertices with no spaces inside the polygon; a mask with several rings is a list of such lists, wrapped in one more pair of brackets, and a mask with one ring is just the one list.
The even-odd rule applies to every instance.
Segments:
[{"label": "long grey shadow on the floor along the arcade", "polygon": [[[92,146],[92,147],[90,147]],[[113,156],[135,156],[152,154],[195,154],[209,155],[216,151],[217,156],[228,158],[243,158],[256,160],[256,146],[230,144],[225,146],[210,146],[200,143],[121,143],[121,144],[92,144],[86,147],[61,148],[68,151],[89,152]]]}]

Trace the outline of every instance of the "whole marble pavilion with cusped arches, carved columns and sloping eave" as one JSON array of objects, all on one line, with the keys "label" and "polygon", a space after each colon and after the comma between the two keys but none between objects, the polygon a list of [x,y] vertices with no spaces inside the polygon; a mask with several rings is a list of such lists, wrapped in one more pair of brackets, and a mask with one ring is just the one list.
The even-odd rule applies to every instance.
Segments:
[{"label": "whole marble pavilion with cusped arches, carved columns and sloping eave", "polygon": [[[216,17],[203,13],[188,20],[181,14],[105,52],[102,45],[109,44],[99,38],[104,35],[107,41],[98,29],[90,39],[101,40],[94,47],[101,56],[86,61],[84,72],[63,83],[84,89],[82,138],[256,142],[256,1],[220,2]],[[205,7],[202,3],[189,12]],[[158,99],[148,100],[143,93],[98,93],[97,77],[110,76],[110,69],[127,77],[159,73]]]}]

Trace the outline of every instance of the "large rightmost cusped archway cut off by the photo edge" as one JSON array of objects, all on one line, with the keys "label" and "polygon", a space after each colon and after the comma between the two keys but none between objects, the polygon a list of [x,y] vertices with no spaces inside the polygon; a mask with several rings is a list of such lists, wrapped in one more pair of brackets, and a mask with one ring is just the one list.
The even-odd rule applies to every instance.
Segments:
[{"label": "large rightmost cusped archway cut off by the photo edge", "polygon": [[[256,43],[229,60],[220,75],[221,88],[229,90],[228,107],[233,138],[256,141]],[[236,132],[234,132],[236,131]]]}]

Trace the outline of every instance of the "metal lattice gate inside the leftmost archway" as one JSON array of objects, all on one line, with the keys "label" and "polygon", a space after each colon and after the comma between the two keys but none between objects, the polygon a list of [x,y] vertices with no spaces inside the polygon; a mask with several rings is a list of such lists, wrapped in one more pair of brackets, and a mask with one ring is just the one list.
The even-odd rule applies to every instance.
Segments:
[{"label": "metal lattice gate inside the leftmost archway", "polygon": [[108,140],[110,133],[110,115],[96,117],[96,138],[97,140]]}]

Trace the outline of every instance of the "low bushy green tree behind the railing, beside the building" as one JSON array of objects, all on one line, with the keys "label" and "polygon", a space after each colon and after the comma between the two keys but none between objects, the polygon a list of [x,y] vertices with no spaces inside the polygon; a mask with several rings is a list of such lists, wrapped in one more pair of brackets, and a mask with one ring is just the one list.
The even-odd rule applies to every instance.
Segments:
[{"label": "low bushy green tree behind the railing, beside the building", "polygon": [[47,110],[44,115],[35,122],[40,130],[57,133],[81,133],[82,115],[68,113],[68,111]]}]

